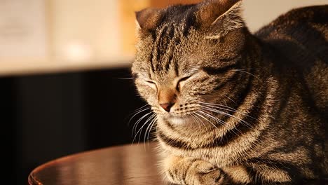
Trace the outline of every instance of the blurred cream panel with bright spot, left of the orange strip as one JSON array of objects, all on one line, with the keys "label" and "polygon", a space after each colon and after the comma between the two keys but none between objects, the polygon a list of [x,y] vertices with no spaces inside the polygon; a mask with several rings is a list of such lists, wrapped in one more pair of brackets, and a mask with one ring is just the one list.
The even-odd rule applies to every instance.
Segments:
[{"label": "blurred cream panel with bright spot, left of the orange strip", "polygon": [[107,60],[121,52],[118,1],[53,0],[51,9],[55,57]]}]

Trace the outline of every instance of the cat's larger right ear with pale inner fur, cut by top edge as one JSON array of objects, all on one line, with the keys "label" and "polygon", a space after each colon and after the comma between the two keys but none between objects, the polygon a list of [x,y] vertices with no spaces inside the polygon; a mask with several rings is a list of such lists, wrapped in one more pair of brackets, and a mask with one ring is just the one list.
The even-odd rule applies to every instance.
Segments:
[{"label": "cat's larger right ear with pale inner fur, cut by top edge", "polygon": [[245,27],[240,0],[209,0],[200,4],[196,18],[207,31],[207,39],[221,39],[228,32]]}]

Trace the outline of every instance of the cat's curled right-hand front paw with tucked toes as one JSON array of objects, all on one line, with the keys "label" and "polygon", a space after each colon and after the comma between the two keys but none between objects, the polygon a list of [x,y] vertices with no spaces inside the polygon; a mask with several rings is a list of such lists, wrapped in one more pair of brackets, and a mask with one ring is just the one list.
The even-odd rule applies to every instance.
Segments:
[{"label": "cat's curled right-hand front paw with tucked toes", "polygon": [[190,185],[224,184],[221,170],[205,160],[196,160],[186,173],[186,182]]}]

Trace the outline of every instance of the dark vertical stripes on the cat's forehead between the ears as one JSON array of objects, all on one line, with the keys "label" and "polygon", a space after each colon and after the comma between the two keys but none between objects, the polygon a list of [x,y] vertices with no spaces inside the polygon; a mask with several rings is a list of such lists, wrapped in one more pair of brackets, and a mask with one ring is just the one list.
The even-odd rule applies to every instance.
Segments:
[{"label": "dark vertical stripes on the cat's forehead between the ears", "polygon": [[165,9],[163,19],[153,33],[151,69],[154,73],[167,73],[170,69],[179,75],[177,48],[182,39],[189,36],[190,29],[196,26],[193,15],[194,5],[172,6]]}]

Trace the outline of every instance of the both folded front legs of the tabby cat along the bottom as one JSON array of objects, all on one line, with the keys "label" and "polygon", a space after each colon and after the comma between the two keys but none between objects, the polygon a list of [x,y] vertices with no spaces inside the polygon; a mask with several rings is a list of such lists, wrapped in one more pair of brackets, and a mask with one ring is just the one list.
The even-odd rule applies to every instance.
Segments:
[{"label": "both folded front legs of the tabby cat along the bottom", "polygon": [[292,181],[286,170],[264,163],[219,169],[205,160],[169,156],[163,160],[163,170],[165,178],[173,184],[289,184]]}]

